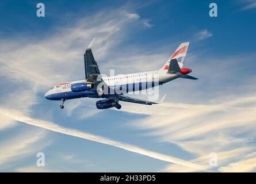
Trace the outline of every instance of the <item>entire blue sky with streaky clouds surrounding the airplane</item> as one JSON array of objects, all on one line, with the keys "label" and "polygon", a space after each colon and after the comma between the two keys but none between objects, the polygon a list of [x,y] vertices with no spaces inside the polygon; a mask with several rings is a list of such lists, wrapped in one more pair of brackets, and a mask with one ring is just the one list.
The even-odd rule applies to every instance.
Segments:
[{"label": "entire blue sky with streaky clouds surrounding the airplane", "polygon": [[[0,171],[256,171],[256,2],[215,1],[215,18],[211,2],[44,1],[39,18],[37,1],[1,1]],[[83,79],[93,37],[103,74],[155,70],[190,41],[185,67],[200,80],[161,86],[161,105],[62,110],[44,93]]]}]

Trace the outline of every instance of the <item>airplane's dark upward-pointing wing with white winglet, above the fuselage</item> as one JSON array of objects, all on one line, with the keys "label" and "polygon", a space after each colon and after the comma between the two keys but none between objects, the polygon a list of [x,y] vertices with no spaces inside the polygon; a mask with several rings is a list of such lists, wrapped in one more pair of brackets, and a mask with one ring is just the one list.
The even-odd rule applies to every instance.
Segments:
[{"label": "airplane's dark upward-pointing wing with white winglet, above the fuselage", "polygon": [[93,47],[93,41],[91,41],[90,45],[86,48],[84,57],[85,57],[85,79],[87,81],[93,82],[97,79],[97,76],[100,75],[100,70],[98,68],[97,62],[94,60],[93,52],[91,52],[91,48]]}]

